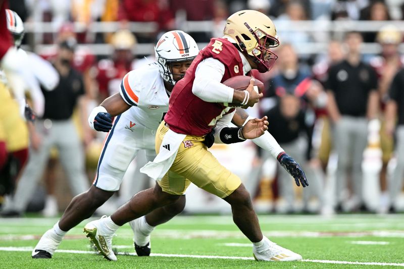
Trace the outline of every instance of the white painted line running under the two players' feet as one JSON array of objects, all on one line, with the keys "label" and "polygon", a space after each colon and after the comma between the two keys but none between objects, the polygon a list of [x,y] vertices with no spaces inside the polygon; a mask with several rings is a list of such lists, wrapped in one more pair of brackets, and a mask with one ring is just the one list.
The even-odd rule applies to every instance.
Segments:
[{"label": "white painted line running under the two players' feet", "polygon": [[[0,247],[0,251],[32,251],[32,247]],[[94,251],[85,250],[70,250],[70,249],[58,249],[59,253],[76,253],[76,254],[96,254]],[[136,256],[135,253],[118,252],[118,255]],[[187,254],[163,254],[163,253],[151,253],[150,256],[155,257],[177,257],[177,258],[205,258],[205,259],[239,259],[239,260],[254,260],[253,257],[234,257],[234,256],[211,256],[211,255],[187,255]],[[356,264],[356,265],[379,265],[379,266],[401,266],[404,267],[404,263],[393,262],[361,262],[361,261],[342,261],[342,260],[311,260],[304,259],[301,261],[317,262],[317,263],[333,263],[333,264]]]}]

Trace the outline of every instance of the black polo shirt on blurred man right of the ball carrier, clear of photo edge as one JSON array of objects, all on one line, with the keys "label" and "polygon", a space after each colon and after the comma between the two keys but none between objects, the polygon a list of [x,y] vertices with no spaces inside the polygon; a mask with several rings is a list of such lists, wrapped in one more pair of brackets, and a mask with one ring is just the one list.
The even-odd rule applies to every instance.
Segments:
[{"label": "black polo shirt on blurred man right of the ball carrier, clear of photo edge", "polygon": [[330,68],[326,88],[334,93],[341,115],[363,117],[369,93],[377,88],[377,75],[363,62],[351,66],[344,60]]}]

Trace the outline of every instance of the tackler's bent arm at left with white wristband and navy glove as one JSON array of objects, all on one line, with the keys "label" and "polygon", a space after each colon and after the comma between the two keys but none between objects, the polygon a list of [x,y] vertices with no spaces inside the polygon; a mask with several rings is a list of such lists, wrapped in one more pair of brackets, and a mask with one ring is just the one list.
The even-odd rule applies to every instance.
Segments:
[{"label": "tackler's bent arm at left with white wristband and navy glove", "polygon": [[112,128],[112,117],[124,113],[129,108],[130,105],[124,101],[121,95],[115,93],[91,111],[88,124],[91,129],[96,131],[109,132]]}]

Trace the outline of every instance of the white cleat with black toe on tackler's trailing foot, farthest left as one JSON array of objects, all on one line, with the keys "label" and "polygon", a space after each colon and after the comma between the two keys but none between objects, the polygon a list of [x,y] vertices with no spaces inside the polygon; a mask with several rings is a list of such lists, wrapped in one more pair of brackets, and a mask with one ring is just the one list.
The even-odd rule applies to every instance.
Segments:
[{"label": "white cleat with black toe on tackler's trailing foot, farthest left", "polygon": [[47,230],[32,251],[32,258],[51,258],[61,242],[62,237],[58,236],[54,229]]}]

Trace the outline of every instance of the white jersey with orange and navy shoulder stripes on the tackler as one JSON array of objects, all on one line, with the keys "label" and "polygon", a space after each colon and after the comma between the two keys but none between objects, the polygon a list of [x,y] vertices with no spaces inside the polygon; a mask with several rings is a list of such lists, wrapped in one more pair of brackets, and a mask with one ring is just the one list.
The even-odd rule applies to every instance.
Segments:
[{"label": "white jersey with orange and navy shoulder stripes on the tackler", "polygon": [[124,114],[136,124],[157,130],[168,111],[169,100],[157,63],[127,73],[119,92],[125,102],[132,105]]}]

